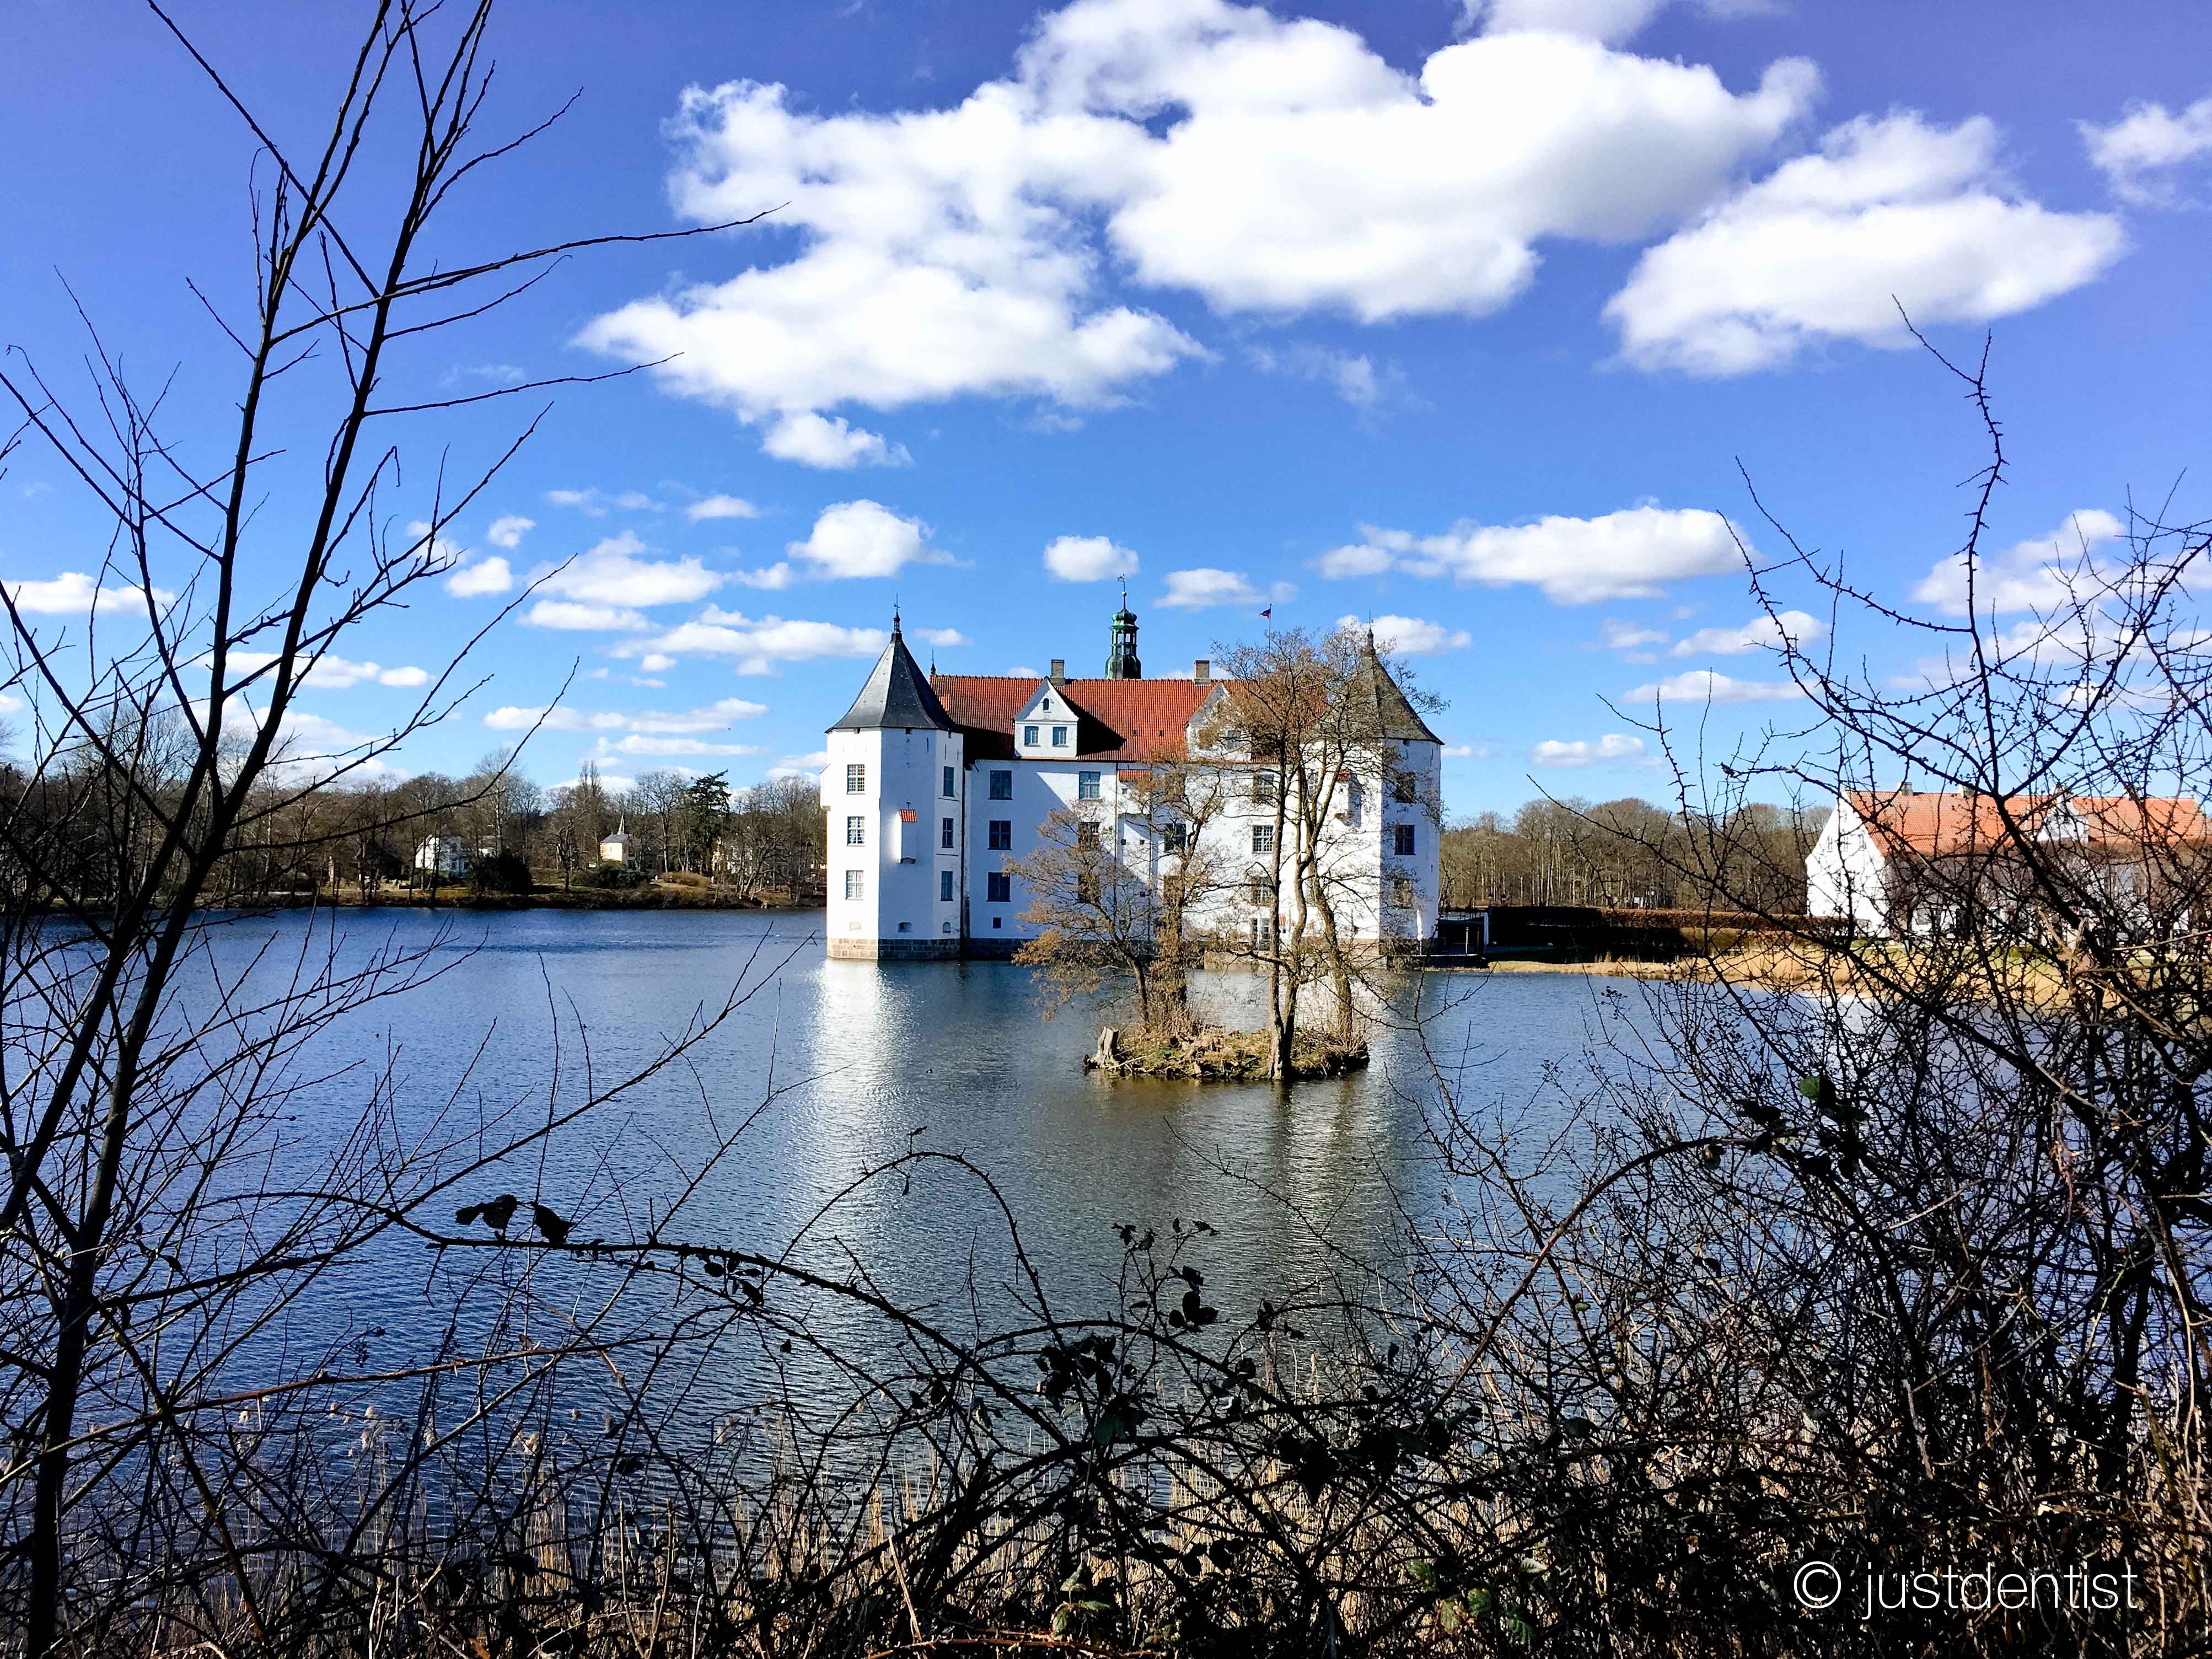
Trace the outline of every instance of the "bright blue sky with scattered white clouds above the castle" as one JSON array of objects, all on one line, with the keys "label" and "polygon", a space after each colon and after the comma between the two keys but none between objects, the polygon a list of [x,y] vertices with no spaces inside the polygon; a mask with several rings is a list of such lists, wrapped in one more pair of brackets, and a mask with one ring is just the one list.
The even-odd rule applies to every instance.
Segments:
[{"label": "bright blue sky with scattered white clouds above the castle", "polygon": [[[279,131],[316,124],[349,7],[177,15]],[[748,783],[821,748],[894,595],[942,668],[1097,672],[1126,573],[1150,672],[1270,604],[1383,619],[1449,699],[1455,814],[1659,794],[1655,688],[1723,741],[1798,719],[1747,626],[1728,522],[1778,535],[1739,465],[1807,546],[1949,602],[1980,434],[1891,294],[1947,349],[1995,332],[2008,615],[2212,425],[2199,4],[535,0],[495,46],[493,124],[582,97],[456,254],[779,212],[571,261],[409,369],[677,354],[560,394],[453,575],[310,688],[327,730],[385,730],[409,670],[575,557],[416,770],[511,741],[573,670],[538,779]],[[252,150],[157,20],[9,7],[0,146],[0,341],[66,374],[66,279],[137,372],[181,365],[186,425],[219,418],[186,276],[237,299]],[[416,436],[484,453],[515,414]],[[69,626],[102,546],[18,456],[18,599]],[[1896,630],[1838,646],[1911,668]]]}]

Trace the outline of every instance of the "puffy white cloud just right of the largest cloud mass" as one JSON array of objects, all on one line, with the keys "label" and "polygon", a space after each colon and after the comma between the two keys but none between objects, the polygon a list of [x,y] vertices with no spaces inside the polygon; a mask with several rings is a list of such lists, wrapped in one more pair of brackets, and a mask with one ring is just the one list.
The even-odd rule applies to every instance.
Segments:
[{"label": "puffy white cloud just right of the largest cloud mass", "polygon": [[1900,305],[1918,325],[2024,312],[2124,243],[2112,215],[2020,199],[1986,117],[1863,115],[1648,250],[1606,316],[1639,367],[1745,374],[1825,341],[1909,345]]}]

